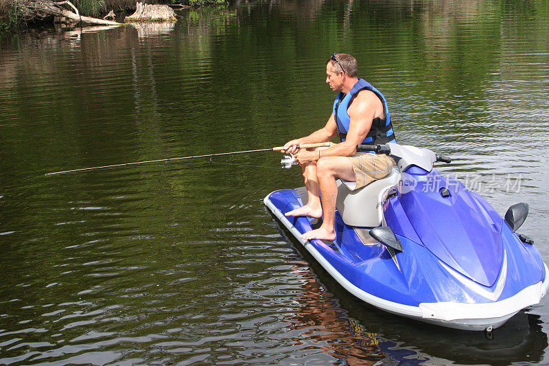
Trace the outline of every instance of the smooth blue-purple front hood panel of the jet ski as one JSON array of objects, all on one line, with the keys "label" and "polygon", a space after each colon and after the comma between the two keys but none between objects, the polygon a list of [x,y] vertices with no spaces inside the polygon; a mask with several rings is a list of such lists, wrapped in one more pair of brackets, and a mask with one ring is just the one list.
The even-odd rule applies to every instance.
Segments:
[{"label": "smooth blue-purple front hood panel of the jet ski", "polygon": [[428,181],[402,194],[406,216],[423,245],[441,262],[478,284],[492,286],[502,267],[502,219],[493,209],[487,211],[460,183],[443,183],[452,187],[449,196],[423,189],[421,185]]}]

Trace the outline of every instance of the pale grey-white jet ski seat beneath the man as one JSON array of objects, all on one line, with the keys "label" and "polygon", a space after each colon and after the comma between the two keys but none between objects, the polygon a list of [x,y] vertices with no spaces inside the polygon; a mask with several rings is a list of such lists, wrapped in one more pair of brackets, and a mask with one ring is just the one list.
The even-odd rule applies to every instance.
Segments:
[{"label": "pale grey-white jet ski seat beneath the man", "polygon": [[382,225],[383,199],[388,190],[399,183],[400,172],[393,168],[385,178],[373,181],[358,190],[349,190],[347,184],[355,182],[343,182],[337,179],[338,209],[343,222],[347,225],[358,227],[377,227]]}]

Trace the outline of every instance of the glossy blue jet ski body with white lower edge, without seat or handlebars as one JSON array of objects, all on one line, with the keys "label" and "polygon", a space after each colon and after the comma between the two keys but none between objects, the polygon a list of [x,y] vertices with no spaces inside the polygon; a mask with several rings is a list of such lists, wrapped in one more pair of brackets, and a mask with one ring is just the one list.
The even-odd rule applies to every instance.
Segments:
[{"label": "glossy blue jet ski body with white lower edge, without seat or handlebars", "polygon": [[[430,174],[441,176],[436,170]],[[445,203],[446,208],[435,208],[450,213],[460,205],[471,205],[480,212],[478,217],[471,214],[473,222],[462,225],[476,227],[473,231],[478,234],[468,232],[468,241],[454,238],[446,246],[441,243],[441,236],[448,230],[459,232],[459,224],[450,223],[446,227],[436,222],[435,217],[434,225],[439,226],[433,229],[434,233],[433,230],[427,233],[428,222],[414,225],[410,220],[421,214],[422,209],[433,207],[414,202],[413,194],[399,192],[386,198],[383,223],[392,227],[403,251],[395,251],[371,238],[369,227],[345,224],[338,211],[334,242],[301,239],[301,234],[313,228],[315,219],[284,214],[303,205],[302,194],[303,189],[278,190],[268,194],[264,203],[331,277],[372,306],[448,328],[490,330],[523,308],[538,304],[546,294],[548,268],[537,249],[521,242],[488,203],[473,192],[452,191],[450,204],[438,196],[428,203],[434,206]],[[483,227],[488,227],[489,232],[484,232],[487,230]],[[478,253],[469,255],[471,251]]]}]

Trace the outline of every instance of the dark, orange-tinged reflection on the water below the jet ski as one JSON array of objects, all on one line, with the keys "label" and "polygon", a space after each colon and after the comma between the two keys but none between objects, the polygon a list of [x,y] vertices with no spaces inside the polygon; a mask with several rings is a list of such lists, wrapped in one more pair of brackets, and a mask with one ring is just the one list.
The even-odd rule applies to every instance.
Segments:
[{"label": "dark, orange-tinged reflection on the water below the jet ski", "polygon": [[[275,220],[273,218],[273,220]],[[302,330],[296,345],[346,365],[509,365],[544,358],[547,334],[539,315],[519,312],[491,334],[452,330],[389,314],[353,297],[275,220],[296,250],[292,273],[303,280],[301,310],[288,319]],[[308,358],[307,358],[308,359]]]}]

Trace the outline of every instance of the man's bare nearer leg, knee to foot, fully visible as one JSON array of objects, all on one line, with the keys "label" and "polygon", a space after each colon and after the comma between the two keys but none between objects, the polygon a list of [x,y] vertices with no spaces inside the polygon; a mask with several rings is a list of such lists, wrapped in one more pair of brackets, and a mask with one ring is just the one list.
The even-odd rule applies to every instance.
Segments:
[{"label": "man's bare nearer leg, knee to foot, fully visible", "polygon": [[347,157],[323,157],[316,165],[316,176],[320,184],[320,199],[324,209],[322,225],[316,230],[307,231],[301,238],[305,240],[321,239],[335,240],[336,229],[336,198],[338,196],[338,185],[336,178],[345,181],[355,181],[353,165]]}]

